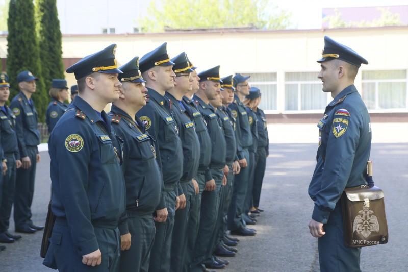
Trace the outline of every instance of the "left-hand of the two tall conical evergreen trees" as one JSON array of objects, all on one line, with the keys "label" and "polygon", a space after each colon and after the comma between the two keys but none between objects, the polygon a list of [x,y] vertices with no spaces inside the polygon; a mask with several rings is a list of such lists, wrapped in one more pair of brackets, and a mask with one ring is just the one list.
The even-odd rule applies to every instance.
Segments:
[{"label": "left-hand of the two tall conical evergreen trees", "polygon": [[48,94],[44,89],[40,55],[35,31],[34,4],[31,0],[11,0],[7,20],[7,73],[10,76],[10,98],[19,93],[18,73],[29,70],[39,80],[32,98],[40,121],[45,120]]}]

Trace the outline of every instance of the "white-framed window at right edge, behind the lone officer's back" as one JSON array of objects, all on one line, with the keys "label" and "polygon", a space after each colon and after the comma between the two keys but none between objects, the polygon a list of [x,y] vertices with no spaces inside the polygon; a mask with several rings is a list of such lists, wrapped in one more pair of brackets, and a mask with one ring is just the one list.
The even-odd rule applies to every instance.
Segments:
[{"label": "white-framed window at right edge, behind the lone officer's back", "polygon": [[369,110],[407,108],[407,70],[362,71],[362,96]]}]

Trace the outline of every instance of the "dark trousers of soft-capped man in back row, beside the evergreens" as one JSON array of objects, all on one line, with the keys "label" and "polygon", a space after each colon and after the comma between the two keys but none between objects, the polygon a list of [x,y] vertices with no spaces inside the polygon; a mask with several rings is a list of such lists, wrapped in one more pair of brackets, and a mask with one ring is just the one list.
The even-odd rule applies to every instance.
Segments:
[{"label": "dark trousers of soft-capped man in back row, beside the evergreens", "polygon": [[31,204],[34,195],[35,170],[37,167],[37,146],[27,146],[27,155],[31,161],[31,167],[17,169],[16,190],[14,194],[14,223],[15,228],[23,228],[32,225]]}]

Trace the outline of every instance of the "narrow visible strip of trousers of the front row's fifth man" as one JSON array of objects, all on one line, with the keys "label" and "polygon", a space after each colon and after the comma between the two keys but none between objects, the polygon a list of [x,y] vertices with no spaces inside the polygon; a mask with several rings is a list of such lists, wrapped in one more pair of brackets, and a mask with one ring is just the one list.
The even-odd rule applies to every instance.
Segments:
[{"label": "narrow visible strip of trousers of the front row's fifth man", "polygon": [[190,227],[187,230],[187,248],[184,257],[183,272],[190,272],[190,264],[193,261],[194,245],[197,239],[198,228],[200,226],[201,215],[201,196],[204,188],[206,187],[206,181],[203,173],[198,173],[194,179],[198,183],[199,193],[194,195],[194,202],[190,214]]}]

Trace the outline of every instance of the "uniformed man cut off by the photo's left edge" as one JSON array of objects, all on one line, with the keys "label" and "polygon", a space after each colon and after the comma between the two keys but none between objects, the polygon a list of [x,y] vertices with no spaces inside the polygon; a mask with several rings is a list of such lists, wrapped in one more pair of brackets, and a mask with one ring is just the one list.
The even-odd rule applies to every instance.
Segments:
[{"label": "uniformed man cut off by the photo's left edge", "polygon": [[5,104],[10,95],[9,76],[0,73],[0,146],[2,147],[3,186],[0,186],[0,242],[13,243],[21,235],[9,232],[11,207],[16,187],[16,168],[21,167],[15,132],[15,116]]}]

